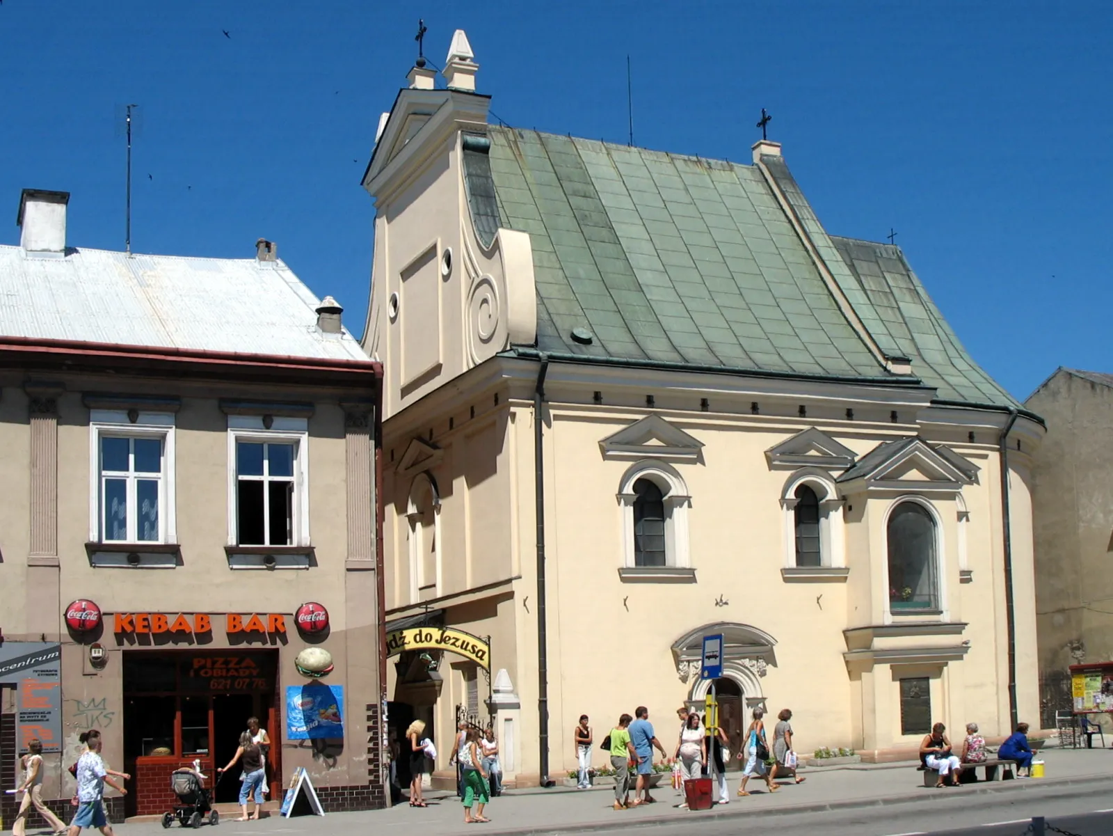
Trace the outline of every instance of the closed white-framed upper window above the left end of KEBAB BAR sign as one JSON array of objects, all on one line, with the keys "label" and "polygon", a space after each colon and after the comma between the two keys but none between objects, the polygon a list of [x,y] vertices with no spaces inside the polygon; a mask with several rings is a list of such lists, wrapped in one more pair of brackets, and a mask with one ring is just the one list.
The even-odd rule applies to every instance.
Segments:
[{"label": "closed white-framed upper window above the left end of KEBAB BAR sign", "polygon": [[89,540],[174,543],[174,415],[90,412]]}]

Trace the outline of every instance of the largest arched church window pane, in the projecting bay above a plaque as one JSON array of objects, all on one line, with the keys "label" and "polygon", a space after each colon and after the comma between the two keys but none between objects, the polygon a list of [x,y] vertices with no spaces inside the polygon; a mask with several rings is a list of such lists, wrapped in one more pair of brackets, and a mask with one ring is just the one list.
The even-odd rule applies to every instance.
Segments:
[{"label": "largest arched church window pane, in the projecting bay above a plaque", "polygon": [[937,610],[935,518],[918,502],[902,502],[888,523],[889,610]]}]

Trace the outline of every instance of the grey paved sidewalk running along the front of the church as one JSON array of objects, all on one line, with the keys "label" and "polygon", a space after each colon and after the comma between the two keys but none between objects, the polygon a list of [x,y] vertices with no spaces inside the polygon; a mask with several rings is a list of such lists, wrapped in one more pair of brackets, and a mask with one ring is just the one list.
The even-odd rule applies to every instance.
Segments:
[{"label": "grey paved sidewalk running along the front of the church", "polygon": [[[277,820],[264,818],[260,822],[243,824],[225,818],[220,823],[220,832],[223,836],[264,834],[275,830],[275,825],[280,823],[280,830],[290,834],[363,834],[368,827],[387,836],[392,834],[406,836],[408,830],[415,828],[423,833],[434,832],[437,836],[484,833],[489,836],[508,833],[542,834],[677,824],[683,818],[695,820],[692,817],[721,818],[837,810],[922,801],[930,797],[957,794],[1013,793],[1050,785],[1113,781],[1113,753],[1109,749],[1048,749],[1040,753],[1040,757],[1046,765],[1045,778],[979,781],[955,789],[924,787],[923,776],[916,770],[915,761],[861,764],[855,767],[801,769],[801,777],[807,778],[804,784],[784,784],[771,795],[766,790],[764,781],[750,779],[747,788],[751,794],[746,798],[735,796],[739,774],[733,773],[728,776],[730,803],[715,805],[708,812],[681,810],[673,807],[680,803],[680,794],[666,785],[654,790],[654,796],[659,799],[657,804],[620,812],[612,809],[613,785],[604,778],[589,790],[563,787],[548,790],[540,788],[508,790],[487,805],[484,815],[492,819],[487,825],[465,825],[460,799],[450,791],[433,790],[425,795],[430,806],[424,809],[410,807],[403,800],[400,806],[387,810],[336,813],[329,814],[324,820],[317,817]],[[155,824],[126,826],[128,836],[160,832],[161,827]]]}]

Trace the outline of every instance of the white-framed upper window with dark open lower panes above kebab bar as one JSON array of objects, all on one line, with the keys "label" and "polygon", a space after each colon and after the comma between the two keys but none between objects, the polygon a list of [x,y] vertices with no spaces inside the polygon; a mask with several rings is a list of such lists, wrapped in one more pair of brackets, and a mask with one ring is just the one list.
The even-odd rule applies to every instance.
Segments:
[{"label": "white-framed upper window with dark open lower panes above kebab bar", "polygon": [[309,544],[307,442],[303,419],[229,416],[229,545]]}]

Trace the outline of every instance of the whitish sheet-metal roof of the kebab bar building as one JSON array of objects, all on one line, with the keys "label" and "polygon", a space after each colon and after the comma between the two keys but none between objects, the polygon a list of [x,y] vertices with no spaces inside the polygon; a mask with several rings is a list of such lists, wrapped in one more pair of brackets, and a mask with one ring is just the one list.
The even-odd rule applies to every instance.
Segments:
[{"label": "whitish sheet-metal roof of the kebab bar building", "polygon": [[0,246],[4,336],[367,360],[347,331],[317,328],[318,304],[280,260]]}]

